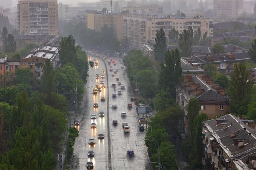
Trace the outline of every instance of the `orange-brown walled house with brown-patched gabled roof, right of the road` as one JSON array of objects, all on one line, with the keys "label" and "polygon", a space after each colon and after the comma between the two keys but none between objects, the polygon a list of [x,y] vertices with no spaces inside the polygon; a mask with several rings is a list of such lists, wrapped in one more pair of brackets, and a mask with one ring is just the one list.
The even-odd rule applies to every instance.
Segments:
[{"label": "orange-brown walled house with brown-patched gabled roof, right of the road", "polygon": [[[200,75],[201,76],[201,75]],[[184,82],[177,88],[177,103],[184,109],[187,116],[187,107],[191,98],[197,98],[200,111],[209,119],[228,113],[228,97],[220,85],[214,84],[207,76],[184,75]]]}]

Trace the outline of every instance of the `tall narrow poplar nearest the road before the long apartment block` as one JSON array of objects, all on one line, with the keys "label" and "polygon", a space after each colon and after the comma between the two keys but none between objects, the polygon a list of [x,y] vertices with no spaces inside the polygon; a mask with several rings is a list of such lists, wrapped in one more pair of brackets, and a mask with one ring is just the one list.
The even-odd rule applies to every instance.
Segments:
[{"label": "tall narrow poplar nearest the road before the long apartment block", "polygon": [[164,63],[164,54],[166,52],[166,37],[163,29],[157,30],[156,44],[154,45],[154,56],[159,63]]}]

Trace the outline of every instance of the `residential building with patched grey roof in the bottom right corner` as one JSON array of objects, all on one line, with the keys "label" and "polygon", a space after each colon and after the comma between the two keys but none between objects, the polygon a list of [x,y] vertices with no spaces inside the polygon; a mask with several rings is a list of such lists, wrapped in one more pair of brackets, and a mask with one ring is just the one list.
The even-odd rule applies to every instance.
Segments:
[{"label": "residential building with patched grey roof in the bottom right corner", "polygon": [[256,134],[253,120],[224,115],[203,122],[203,169],[255,170]]}]

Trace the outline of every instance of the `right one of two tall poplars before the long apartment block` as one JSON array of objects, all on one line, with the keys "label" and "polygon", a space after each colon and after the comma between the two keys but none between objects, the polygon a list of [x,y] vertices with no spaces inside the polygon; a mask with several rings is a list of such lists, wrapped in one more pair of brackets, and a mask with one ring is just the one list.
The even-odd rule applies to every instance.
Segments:
[{"label": "right one of two tall poplars before the long apartment block", "polygon": [[182,51],[182,57],[191,56],[192,43],[193,43],[193,34],[191,34],[191,31],[183,30],[183,32],[179,34],[179,47]]}]

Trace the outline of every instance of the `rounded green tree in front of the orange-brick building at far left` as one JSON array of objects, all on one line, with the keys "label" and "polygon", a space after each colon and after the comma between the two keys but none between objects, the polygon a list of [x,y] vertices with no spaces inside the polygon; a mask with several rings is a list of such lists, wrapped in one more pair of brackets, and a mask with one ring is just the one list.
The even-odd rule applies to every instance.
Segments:
[{"label": "rounded green tree in front of the orange-brick building at far left", "polygon": [[24,83],[27,85],[31,85],[32,81],[33,81],[33,73],[31,69],[29,68],[15,69],[15,78],[14,78],[15,84]]}]

